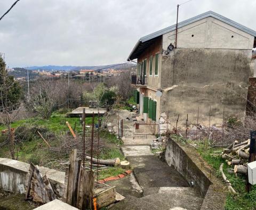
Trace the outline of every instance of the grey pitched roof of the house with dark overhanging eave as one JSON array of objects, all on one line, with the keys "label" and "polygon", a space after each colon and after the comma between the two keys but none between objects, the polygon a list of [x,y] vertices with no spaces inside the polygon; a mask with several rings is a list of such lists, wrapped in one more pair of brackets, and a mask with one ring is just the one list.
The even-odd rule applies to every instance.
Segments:
[{"label": "grey pitched roof of the house with dark overhanging eave", "polygon": [[[252,36],[255,36],[256,37],[256,31],[250,29],[250,28],[247,28],[233,20],[230,20],[226,17],[223,17],[222,15],[218,14],[218,13],[215,13],[213,11],[208,11],[208,12],[205,12],[205,13],[202,13],[202,14],[199,14],[199,15],[196,15],[195,17],[193,18],[189,18],[187,20],[184,20],[184,21],[181,21],[178,23],[178,28],[181,28],[183,26],[187,26],[189,25],[190,23],[193,23],[193,22],[196,22],[198,20],[202,20],[204,18],[208,18],[208,17],[213,17],[215,19],[218,19],[222,22],[225,22],[227,23],[228,25],[230,26],[233,26],[235,28],[238,28],[242,31],[244,31],[245,33],[247,34],[250,34]],[[132,52],[130,53],[127,61],[130,61],[130,60],[133,60],[133,59],[136,59],[138,57],[138,55],[146,49],[146,47],[148,47],[152,42],[155,41],[155,38],[156,37],[159,37],[159,36],[162,36],[163,34],[166,34],[166,33],[169,33],[170,31],[173,31],[176,29],[176,24],[172,25],[172,26],[169,26],[167,28],[164,28],[162,30],[158,30],[152,34],[149,34],[147,36],[143,36],[139,39],[139,41],[135,44]]]}]

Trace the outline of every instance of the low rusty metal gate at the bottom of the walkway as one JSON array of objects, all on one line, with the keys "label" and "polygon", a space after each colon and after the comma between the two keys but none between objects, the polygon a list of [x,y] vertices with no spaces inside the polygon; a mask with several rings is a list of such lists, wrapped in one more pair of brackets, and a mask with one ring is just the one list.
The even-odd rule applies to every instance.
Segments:
[{"label": "low rusty metal gate at the bottom of the walkway", "polygon": [[156,122],[136,121],[133,127],[133,139],[153,139],[159,133],[159,124]]}]

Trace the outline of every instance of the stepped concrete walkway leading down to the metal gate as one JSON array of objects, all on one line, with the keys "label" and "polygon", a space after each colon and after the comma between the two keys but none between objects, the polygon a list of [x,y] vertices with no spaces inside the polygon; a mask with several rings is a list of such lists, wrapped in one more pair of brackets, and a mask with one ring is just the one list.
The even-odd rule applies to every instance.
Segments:
[{"label": "stepped concrete walkway leading down to the metal gate", "polygon": [[[133,126],[133,123],[126,123],[126,126]],[[133,139],[129,133],[123,141],[122,151],[142,193],[140,196],[127,195],[126,191],[126,198],[110,209],[200,209],[203,199],[173,167],[151,152],[151,140]]]}]

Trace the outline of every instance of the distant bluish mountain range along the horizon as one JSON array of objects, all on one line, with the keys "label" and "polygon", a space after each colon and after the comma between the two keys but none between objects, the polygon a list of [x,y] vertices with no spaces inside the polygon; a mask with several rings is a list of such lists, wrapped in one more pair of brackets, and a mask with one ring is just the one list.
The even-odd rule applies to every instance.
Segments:
[{"label": "distant bluish mountain range along the horizon", "polygon": [[77,71],[81,69],[92,69],[92,70],[105,70],[105,69],[129,69],[131,67],[136,66],[135,63],[116,63],[116,64],[109,64],[105,66],[31,66],[31,67],[24,67],[28,70],[47,70],[47,71]]}]

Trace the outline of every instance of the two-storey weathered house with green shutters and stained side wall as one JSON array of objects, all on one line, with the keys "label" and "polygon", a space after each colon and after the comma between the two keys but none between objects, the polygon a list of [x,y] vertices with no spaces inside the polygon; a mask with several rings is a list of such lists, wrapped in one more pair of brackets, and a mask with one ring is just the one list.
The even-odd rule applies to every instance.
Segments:
[{"label": "two-storey weathered house with green shutters and stained side wall", "polygon": [[[256,31],[209,11],[139,39],[127,60],[138,60],[132,85],[144,120],[162,113],[195,122],[244,115]],[[167,51],[167,48],[170,48]]]}]

